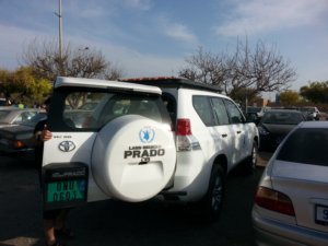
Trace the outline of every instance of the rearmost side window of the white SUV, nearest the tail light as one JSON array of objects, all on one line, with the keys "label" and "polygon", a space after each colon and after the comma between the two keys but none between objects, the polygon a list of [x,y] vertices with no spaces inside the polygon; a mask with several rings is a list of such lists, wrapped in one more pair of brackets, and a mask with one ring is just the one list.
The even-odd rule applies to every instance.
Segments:
[{"label": "rearmost side window of the white SUV, nearest the tail light", "polygon": [[211,127],[216,125],[213,110],[211,110],[210,97],[192,96],[192,106],[206,126]]}]

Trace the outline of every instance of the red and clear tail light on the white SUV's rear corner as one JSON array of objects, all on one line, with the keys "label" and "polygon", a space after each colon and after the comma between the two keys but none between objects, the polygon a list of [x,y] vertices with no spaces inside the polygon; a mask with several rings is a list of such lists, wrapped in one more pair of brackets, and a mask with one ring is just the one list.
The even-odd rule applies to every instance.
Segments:
[{"label": "red and clear tail light on the white SUV's rear corner", "polygon": [[200,150],[198,140],[191,133],[190,119],[177,119],[176,147],[177,151]]}]

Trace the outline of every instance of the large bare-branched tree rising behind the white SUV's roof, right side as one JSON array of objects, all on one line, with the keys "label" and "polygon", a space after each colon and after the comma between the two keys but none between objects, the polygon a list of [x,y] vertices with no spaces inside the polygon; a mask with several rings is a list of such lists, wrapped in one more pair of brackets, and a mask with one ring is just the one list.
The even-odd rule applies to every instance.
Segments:
[{"label": "large bare-branched tree rising behind the white SUV's roof, right side", "polygon": [[260,40],[254,50],[247,39],[245,44],[238,40],[233,55],[214,55],[199,48],[186,62],[188,66],[178,72],[180,77],[221,86],[227,95],[245,89],[251,89],[251,97],[285,90],[296,75],[289,61]]}]

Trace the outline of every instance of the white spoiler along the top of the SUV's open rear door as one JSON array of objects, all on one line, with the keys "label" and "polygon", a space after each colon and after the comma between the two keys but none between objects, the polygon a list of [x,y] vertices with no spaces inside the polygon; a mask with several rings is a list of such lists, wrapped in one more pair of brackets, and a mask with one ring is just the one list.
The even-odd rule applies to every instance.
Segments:
[{"label": "white spoiler along the top of the SUV's open rear door", "polygon": [[94,87],[94,89],[114,89],[124,91],[136,91],[152,94],[162,94],[162,90],[156,86],[127,83],[120,81],[98,80],[98,79],[85,79],[85,78],[70,78],[58,77],[55,82],[56,87],[75,86],[75,87]]}]

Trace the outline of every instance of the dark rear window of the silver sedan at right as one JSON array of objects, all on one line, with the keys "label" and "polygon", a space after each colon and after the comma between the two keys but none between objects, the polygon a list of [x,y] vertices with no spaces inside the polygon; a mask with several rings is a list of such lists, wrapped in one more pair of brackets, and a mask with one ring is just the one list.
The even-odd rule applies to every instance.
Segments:
[{"label": "dark rear window of the silver sedan at right", "polygon": [[284,142],[277,159],[328,166],[328,129],[298,128]]}]

